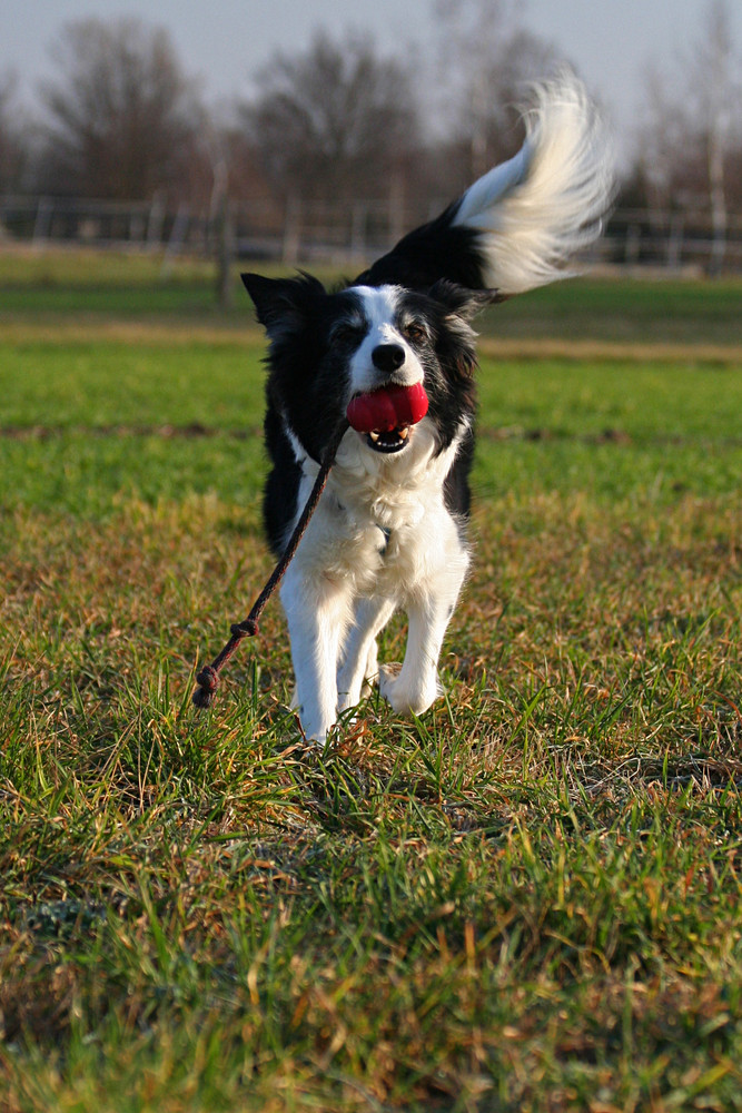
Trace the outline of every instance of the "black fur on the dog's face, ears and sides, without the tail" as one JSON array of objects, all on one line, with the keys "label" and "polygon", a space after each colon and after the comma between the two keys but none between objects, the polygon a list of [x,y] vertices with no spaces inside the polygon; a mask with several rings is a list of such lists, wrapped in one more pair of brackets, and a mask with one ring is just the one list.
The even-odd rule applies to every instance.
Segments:
[{"label": "black fur on the dog's face, ears and sides, without the tail", "polygon": [[[246,274],[243,280],[270,341],[264,427],[273,466],[265,489],[264,521],[269,544],[279,554],[300,509],[301,466],[295,445],[298,442],[307,456],[320,462],[344,417],[347,359],[364,336],[363,302],[352,288],[327,293],[306,275],[266,279]],[[405,292],[400,301],[399,315],[424,321],[429,329],[429,339],[419,339],[415,348],[425,367],[438,452],[459,433],[463,420],[474,417],[476,355],[466,322],[491,299],[488,293],[474,294],[442,280],[426,294]],[[473,451],[469,431],[446,477],[446,505],[459,518],[469,511]]]}]

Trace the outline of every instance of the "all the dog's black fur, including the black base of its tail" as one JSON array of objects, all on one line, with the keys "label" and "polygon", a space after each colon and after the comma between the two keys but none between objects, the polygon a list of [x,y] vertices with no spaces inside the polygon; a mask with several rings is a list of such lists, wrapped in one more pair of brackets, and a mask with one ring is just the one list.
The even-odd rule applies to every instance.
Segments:
[{"label": "all the dog's black fur, including the black base of its tail", "polygon": [[[425,367],[428,414],[436,426],[438,451],[461,433],[463,420],[473,421],[476,354],[467,322],[497,295],[483,289],[475,235],[453,226],[459,204],[409,233],[355,282],[336,292],[328,293],[306,274],[279,279],[243,275],[269,339],[265,439],[271,470],[264,520],[275,553],[283,551],[300,509],[297,443],[319,463],[345,415],[347,361],[364,337],[363,301],[354,287],[404,287],[399,315],[425,322],[429,339],[421,338],[414,346]],[[469,512],[473,453],[469,430],[445,482],[446,505],[461,519]]]}]

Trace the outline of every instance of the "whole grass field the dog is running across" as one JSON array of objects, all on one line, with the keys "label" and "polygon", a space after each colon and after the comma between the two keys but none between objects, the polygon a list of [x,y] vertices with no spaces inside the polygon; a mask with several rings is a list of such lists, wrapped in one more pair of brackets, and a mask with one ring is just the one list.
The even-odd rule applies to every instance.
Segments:
[{"label": "whole grass field the dog is running across", "polygon": [[493,312],[446,697],[323,754],[277,605],[190,706],[263,347],[158,266],[0,254],[0,1110],[742,1110],[742,285]]}]

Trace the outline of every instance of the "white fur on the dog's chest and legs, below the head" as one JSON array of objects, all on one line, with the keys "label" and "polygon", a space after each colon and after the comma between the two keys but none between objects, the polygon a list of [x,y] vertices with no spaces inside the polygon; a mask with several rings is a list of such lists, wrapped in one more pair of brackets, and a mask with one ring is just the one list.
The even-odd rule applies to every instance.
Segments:
[{"label": "white fur on the dog's chest and legs, below the head", "polygon": [[[346,433],[280,592],[307,738],[324,741],[376,680],[400,713],[419,715],[435,700],[441,646],[469,560],[443,496],[457,449],[435,455],[428,418],[389,456]],[[316,474],[306,457],[303,466],[299,505]],[[376,638],[398,609],[408,618],[404,664],[379,677]]]}]

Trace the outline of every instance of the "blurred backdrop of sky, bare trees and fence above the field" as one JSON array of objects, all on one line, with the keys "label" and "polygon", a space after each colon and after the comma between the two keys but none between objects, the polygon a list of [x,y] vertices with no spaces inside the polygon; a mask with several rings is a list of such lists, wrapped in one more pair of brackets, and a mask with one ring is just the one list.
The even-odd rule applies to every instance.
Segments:
[{"label": "blurred backdrop of sky, bare trees and fence above the field", "polygon": [[352,266],[514,154],[528,82],[567,62],[621,171],[593,262],[742,270],[738,0],[28,0],[6,20],[0,250]]}]

